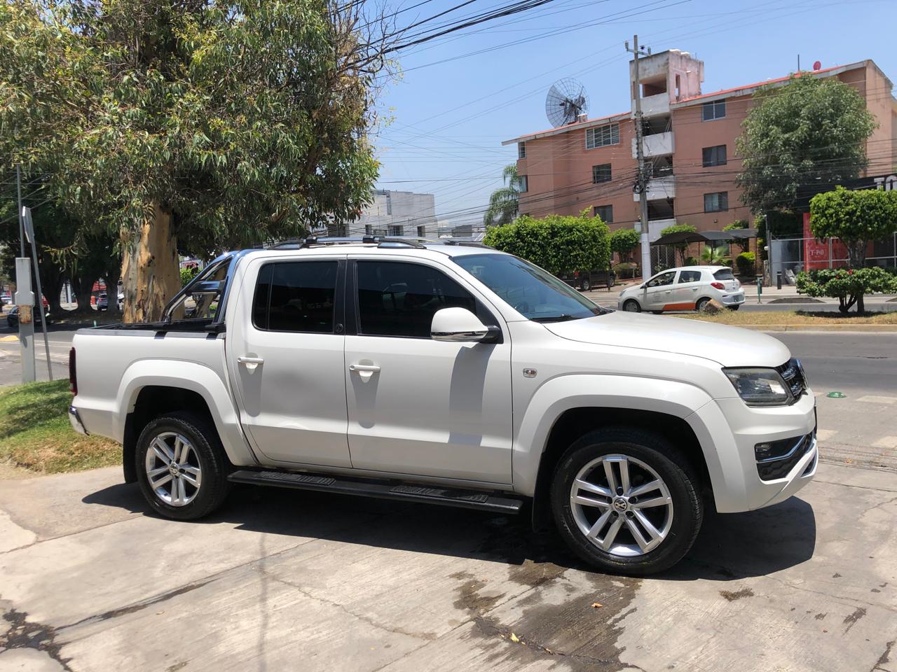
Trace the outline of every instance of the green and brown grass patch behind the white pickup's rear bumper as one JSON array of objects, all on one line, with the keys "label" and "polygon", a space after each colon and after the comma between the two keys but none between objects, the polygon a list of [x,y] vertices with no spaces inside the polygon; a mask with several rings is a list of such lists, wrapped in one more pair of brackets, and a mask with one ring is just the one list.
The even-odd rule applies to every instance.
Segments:
[{"label": "green and brown grass patch behind the white pickup's rear bumper", "polygon": [[121,448],[68,422],[68,381],[0,388],[0,461],[41,474],[121,463]]}]

